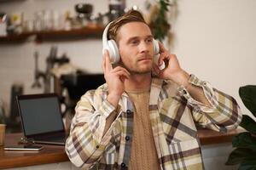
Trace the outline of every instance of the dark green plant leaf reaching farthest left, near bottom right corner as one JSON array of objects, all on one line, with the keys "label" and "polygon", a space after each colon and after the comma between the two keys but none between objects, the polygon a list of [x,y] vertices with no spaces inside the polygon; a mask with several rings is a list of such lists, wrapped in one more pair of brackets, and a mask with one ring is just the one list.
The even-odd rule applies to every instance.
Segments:
[{"label": "dark green plant leaf reaching farthest left, near bottom right corner", "polygon": [[244,160],[255,160],[256,152],[247,148],[236,148],[230,153],[225,165],[236,165]]}]

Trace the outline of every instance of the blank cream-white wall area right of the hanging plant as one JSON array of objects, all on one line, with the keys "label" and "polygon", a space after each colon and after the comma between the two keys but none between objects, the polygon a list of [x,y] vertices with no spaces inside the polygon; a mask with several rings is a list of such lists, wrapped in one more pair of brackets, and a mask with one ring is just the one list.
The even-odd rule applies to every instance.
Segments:
[{"label": "blank cream-white wall area right of the hanging plant", "polygon": [[183,68],[234,96],[256,84],[256,1],[178,0],[175,47]]}]

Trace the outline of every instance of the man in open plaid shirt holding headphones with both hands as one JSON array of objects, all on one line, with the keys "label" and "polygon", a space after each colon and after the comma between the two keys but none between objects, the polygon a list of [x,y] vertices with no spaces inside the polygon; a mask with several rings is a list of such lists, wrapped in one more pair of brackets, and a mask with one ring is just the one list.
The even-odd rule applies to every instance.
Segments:
[{"label": "man in open plaid shirt holding headphones with both hands", "polygon": [[118,44],[119,64],[113,67],[105,50],[107,83],[76,106],[67,156],[86,168],[202,169],[195,122],[222,132],[236,128],[236,100],[189,75],[160,42],[155,65],[153,37],[137,11],[113,21],[108,37]]}]

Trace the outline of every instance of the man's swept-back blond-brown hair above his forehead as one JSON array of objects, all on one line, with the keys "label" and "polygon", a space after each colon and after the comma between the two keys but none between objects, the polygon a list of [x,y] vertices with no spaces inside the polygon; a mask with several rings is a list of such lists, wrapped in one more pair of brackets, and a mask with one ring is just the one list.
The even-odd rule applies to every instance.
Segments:
[{"label": "man's swept-back blond-brown hair above his forehead", "polygon": [[143,22],[144,24],[147,24],[143,18],[143,14],[137,10],[131,9],[124,15],[120,16],[118,19],[113,20],[108,29],[108,39],[117,41],[119,28],[129,22]]}]

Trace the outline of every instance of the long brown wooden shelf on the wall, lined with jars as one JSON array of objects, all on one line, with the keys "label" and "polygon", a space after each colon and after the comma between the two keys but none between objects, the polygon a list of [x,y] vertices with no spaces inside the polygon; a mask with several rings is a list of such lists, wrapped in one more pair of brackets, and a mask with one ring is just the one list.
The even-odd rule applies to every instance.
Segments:
[{"label": "long brown wooden shelf on the wall, lined with jars", "polygon": [[7,37],[0,37],[1,43],[24,42],[28,37],[35,36],[36,42],[45,41],[68,41],[84,39],[88,37],[102,37],[103,26],[90,26],[73,30],[59,30],[59,31],[35,31],[25,32],[17,35],[9,35]]}]

